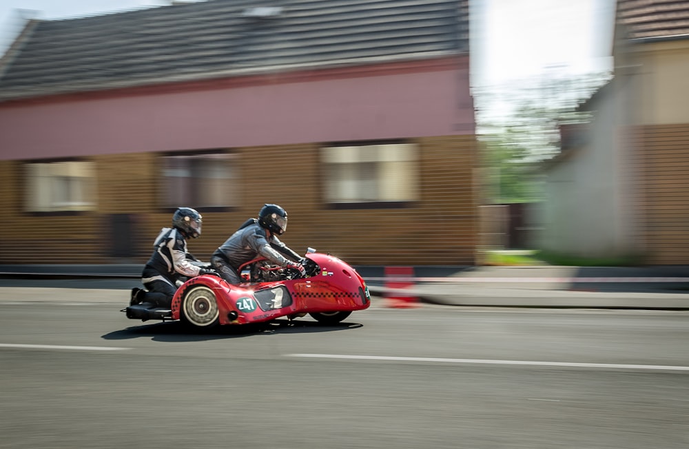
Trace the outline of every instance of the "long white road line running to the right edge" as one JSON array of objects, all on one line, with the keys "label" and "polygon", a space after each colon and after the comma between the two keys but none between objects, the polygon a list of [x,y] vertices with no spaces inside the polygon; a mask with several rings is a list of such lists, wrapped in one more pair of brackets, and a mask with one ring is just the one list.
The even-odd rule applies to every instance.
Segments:
[{"label": "long white road line running to the right edge", "polygon": [[386,362],[434,362],[456,364],[484,364],[484,365],[526,365],[526,366],[561,366],[566,368],[617,368],[633,370],[670,370],[689,371],[689,366],[672,365],[637,365],[637,364],[606,364],[606,363],[578,363],[578,362],[535,362],[529,360],[490,360],[490,359],[443,359],[438,357],[393,357],[386,355],[342,355],[342,354],[285,354],[285,357],[306,357],[311,359],[353,359],[380,360]]}]

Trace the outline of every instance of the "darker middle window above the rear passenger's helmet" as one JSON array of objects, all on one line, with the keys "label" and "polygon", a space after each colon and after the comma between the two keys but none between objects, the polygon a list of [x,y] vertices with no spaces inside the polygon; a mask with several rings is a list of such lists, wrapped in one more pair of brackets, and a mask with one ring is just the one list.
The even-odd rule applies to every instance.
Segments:
[{"label": "darker middle window above the rear passenger's helmet", "polygon": [[163,206],[209,209],[236,205],[234,156],[227,153],[163,156]]}]

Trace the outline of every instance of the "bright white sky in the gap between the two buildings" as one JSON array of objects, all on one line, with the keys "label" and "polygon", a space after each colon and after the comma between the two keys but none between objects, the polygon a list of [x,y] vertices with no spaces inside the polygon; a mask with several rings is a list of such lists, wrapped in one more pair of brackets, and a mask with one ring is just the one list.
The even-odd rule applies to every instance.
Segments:
[{"label": "bright white sky in the gap between the two buildings", "polygon": [[524,79],[553,67],[585,73],[610,66],[614,0],[480,0],[471,4],[471,56],[481,84]]}]

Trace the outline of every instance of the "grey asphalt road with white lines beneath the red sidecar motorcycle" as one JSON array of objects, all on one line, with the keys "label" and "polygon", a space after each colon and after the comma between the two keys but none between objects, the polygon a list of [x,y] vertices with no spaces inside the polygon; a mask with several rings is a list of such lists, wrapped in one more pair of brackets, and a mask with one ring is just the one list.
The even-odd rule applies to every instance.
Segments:
[{"label": "grey asphalt road with white lines beneath the red sidecar motorcycle", "polygon": [[0,448],[689,447],[688,312],[374,302],[193,333],[96,293],[0,288]]}]

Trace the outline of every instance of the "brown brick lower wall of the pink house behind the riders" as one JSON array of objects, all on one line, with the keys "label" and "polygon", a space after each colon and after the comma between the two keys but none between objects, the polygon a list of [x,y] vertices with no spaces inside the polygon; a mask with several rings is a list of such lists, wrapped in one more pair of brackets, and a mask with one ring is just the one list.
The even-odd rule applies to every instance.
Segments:
[{"label": "brown brick lower wall of the pink house behind the riders", "polygon": [[[189,251],[207,260],[227,236],[265,202],[289,213],[282,241],[298,253],[307,247],[351,264],[473,264],[478,236],[475,136],[420,138],[421,200],[402,209],[327,209],[320,191],[316,144],[236,149],[240,205],[203,213],[203,235]],[[152,240],[172,213],[158,207],[156,154],[94,156],[97,211],[61,216],[23,212],[22,165],[0,161],[0,206],[6,212],[0,264],[143,263]],[[181,205],[182,206],[182,205]],[[194,205],[185,205],[194,207]],[[112,256],[112,216],[131,218],[134,248]]]}]

